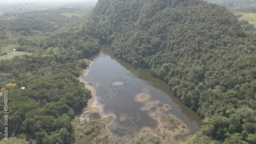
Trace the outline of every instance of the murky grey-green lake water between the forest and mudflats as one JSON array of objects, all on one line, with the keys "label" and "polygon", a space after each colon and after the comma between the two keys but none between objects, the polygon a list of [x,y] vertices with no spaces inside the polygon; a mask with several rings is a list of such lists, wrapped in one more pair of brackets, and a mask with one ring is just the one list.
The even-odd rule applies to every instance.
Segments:
[{"label": "murky grey-green lake water between the forest and mudflats", "polygon": [[[131,64],[115,58],[107,45],[103,45],[100,54],[90,60],[93,62],[89,73],[83,76],[82,81],[96,89],[97,100],[103,107],[102,113],[116,115],[114,122],[107,127],[112,134],[125,136],[143,127],[156,127],[157,122],[148,111],[155,111],[164,104],[172,106],[164,113],[176,115],[189,127],[190,132],[186,135],[199,131],[201,119],[197,113],[174,97],[167,84],[152,77],[148,69],[134,69]],[[158,106],[148,111],[141,110],[145,104],[134,100],[138,93],[150,95],[147,101],[157,101]]]}]

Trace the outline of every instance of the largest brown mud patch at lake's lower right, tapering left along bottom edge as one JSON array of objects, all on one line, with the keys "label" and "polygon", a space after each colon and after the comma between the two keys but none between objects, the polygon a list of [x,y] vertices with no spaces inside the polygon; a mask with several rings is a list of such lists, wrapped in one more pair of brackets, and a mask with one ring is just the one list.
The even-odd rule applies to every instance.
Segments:
[{"label": "largest brown mud patch at lake's lower right, tapering left along bottom edge", "polygon": [[161,112],[148,112],[148,114],[156,119],[157,126],[155,128],[143,127],[138,132],[123,137],[113,135],[108,137],[108,142],[132,144],[136,143],[141,136],[144,136],[146,138],[157,137],[161,144],[169,144],[177,142],[174,138],[176,135],[183,135],[189,132],[187,126],[172,114],[167,115]]}]

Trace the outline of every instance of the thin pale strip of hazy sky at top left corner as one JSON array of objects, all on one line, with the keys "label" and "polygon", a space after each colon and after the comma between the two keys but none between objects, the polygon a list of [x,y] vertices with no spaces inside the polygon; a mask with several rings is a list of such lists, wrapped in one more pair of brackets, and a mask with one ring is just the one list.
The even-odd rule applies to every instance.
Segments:
[{"label": "thin pale strip of hazy sky at top left corner", "polygon": [[30,1],[31,3],[37,3],[37,2],[44,2],[44,3],[50,3],[50,2],[54,2],[54,3],[58,3],[58,2],[69,2],[69,3],[92,3],[92,2],[98,2],[98,0],[0,0],[0,4],[2,3],[23,3],[23,2],[28,2]]}]

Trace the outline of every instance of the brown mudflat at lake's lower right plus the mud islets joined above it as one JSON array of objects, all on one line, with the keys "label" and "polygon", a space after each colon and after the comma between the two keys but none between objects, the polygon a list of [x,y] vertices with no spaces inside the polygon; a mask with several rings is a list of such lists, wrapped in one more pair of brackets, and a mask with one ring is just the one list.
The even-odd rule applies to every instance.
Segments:
[{"label": "brown mudflat at lake's lower right plus the mud islets joined above it", "polygon": [[[175,142],[175,136],[184,135],[190,132],[190,129],[173,114],[165,114],[172,109],[169,104],[161,103],[159,100],[151,100],[148,94],[136,94],[134,100],[142,103],[140,110],[147,111],[148,116],[156,119],[157,126],[155,128],[144,127],[137,135],[145,137],[158,137],[160,143]],[[138,137],[135,138],[138,140]]]}]

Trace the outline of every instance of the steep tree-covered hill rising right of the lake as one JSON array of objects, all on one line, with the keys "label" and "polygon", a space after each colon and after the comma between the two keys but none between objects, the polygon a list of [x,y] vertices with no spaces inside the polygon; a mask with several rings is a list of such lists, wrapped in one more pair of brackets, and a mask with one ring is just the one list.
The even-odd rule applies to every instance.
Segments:
[{"label": "steep tree-covered hill rising right of the lake", "polygon": [[91,30],[115,56],[147,63],[203,118],[190,143],[256,142],[256,39],[226,8],[200,0],[99,1]]}]

